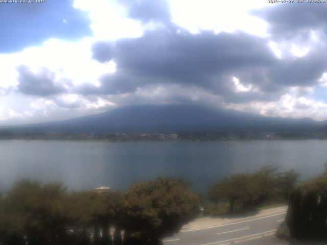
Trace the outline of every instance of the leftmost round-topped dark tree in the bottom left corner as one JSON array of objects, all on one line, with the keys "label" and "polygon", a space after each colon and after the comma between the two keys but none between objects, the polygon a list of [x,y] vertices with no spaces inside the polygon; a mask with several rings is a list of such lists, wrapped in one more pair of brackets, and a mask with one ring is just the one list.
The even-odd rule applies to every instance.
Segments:
[{"label": "leftmost round-topped dark tree in the bottom left corner", "polygon": [[6,230],[20,240],[26,237],[30,245],[62,244],[67,239],[65,200],[61,184],[19,181],[4,204]]}]

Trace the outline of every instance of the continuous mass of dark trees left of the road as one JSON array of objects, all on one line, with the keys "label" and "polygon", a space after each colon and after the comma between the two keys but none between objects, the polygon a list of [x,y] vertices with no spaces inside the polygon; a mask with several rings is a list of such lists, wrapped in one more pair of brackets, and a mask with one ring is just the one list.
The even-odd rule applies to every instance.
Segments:
[{"label": "continuous mass of dark trees left of the road", "polygon": [[0,244],[152,245],[198,211],[197,195],[180,179],[158,178],[123,193],[70,192],[60,183],[22,180],[0,197]]}]

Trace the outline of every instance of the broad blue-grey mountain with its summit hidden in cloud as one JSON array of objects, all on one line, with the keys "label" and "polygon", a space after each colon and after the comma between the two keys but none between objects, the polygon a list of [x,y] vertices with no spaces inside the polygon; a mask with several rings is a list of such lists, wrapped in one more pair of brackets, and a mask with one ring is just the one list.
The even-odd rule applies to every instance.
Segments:
[{"label": "broad blue-grey mountain with its summit hidden in cloud", "polygon": [[[202,106],[128,106],[69,119],[10,127],[11,130],[58,132],[177,132],[177,131],[320,131],[325,121],[266,117]],[[3,128],[4,129],[4,128]],[[7,128],[9,129],[9,128]]]}]

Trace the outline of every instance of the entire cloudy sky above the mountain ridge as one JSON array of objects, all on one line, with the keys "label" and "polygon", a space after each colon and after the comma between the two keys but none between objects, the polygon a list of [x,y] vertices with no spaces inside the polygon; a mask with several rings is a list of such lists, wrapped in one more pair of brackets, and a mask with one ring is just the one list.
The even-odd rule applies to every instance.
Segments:
[{"label": "entire cloudy sky above the mountain ridge", "polygon": [[0,3],[0,125],[170,104],[327,119],[327,4],[20,2]]}]

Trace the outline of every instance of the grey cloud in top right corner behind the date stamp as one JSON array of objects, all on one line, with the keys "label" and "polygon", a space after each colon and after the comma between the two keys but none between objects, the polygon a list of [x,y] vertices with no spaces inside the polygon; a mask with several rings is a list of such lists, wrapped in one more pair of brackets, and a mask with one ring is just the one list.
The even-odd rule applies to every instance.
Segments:
[{"label": "grey cloud in top right corner behind the date stamp", "polygon": [[327,5],[321,3],[276,4],[253,14],[269,23],[273,38],[305,38],[312,29],[327,28]]}]

